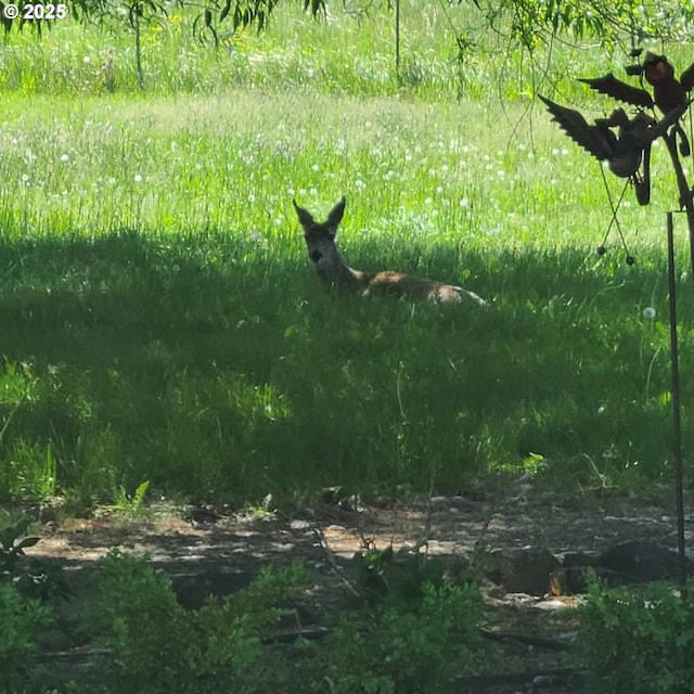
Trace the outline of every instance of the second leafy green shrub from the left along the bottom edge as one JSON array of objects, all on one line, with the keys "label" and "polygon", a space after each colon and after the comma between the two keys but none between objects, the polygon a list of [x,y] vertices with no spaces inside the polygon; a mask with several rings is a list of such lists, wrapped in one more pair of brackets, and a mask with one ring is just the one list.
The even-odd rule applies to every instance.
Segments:
[{"label": "second leafy green shrub from the left along the bottom edge", "polygon": [[86,620],[108,652],[94,669],[94,686],[114,694],[252,691],[249,668],[260,655],[260,631],[277,621],[275,603],[303,577],[298,565],[266,570],[222,605],[189,612],[168,578],[138,558],[110,552]]}]

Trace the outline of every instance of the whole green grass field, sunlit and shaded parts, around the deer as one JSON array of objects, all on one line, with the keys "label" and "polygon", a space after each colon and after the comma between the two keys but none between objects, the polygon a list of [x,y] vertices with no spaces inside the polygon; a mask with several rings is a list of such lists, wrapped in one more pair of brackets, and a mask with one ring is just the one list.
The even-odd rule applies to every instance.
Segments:
[{"label": "whole green grass field, sunlit and shaded parts, around the deer", "polygon": [[[599,258],[600,166],[532,100],[522,55],[494,60],[490,38],[461,72],[446,17],[414,7],[400,80],[389,15],[282,10],[217,52],[174,16],[144,36],[143,93],[126,33],[9,38],[0,501],[669,479],[665,147],[654,203],[628,191],[620,213],[635,265],[614,229]],[[586,55],[557,51],[537,90],[595,117],[611,105],[568,77],[614,66]],[[320,217],[343,194],[350,265],[462,283],[490,309],[325,295],[292,198]],[[683,219],[678,237],[691,436]]]}]

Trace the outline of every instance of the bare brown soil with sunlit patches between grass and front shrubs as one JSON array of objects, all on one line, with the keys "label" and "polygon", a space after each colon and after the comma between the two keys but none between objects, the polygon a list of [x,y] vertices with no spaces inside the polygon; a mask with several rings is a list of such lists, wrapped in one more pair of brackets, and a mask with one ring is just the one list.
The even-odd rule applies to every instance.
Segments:
[{"label": "bare brown soil with sunlit patches between grass and front shrubs", "polygon": [[[393,543],[397,549],[426,540],[428,552],[442,556],[453,571],[479,549],[549,550],[560,560],[574,552],[597,555],[632,540],[674,550],[671,496],[666,490],[650,501],[639,501],[605,493],[527,491],[503,502],[474,494],[388,502],[354,511],[324,506],[293,515],[237,514],[206,507],[189,509],[184,514],[147,510],[129,519],[120,513],[47,523],[41,541],[27,554],[65,567],[68,581],[77,588],[70,609],[79,609],[80,603],[89,600],[90,582],[83,577],[113,548],[146,553],[157,568],[171,576],[188,607],[202,604],[208,593],[226,594],[243,588],[262,566],[279,567],[300,558],[316,575],[316,586],[297,612],[297,625],[310,628],[321,625],[321,615],[334,615],[350,599],[354,577],[349,560],[365,542],[378,549]],[[693,517],[686,516],[687,542],[692,540]],[[485,677],[461,682],[451,691],[580,691],[580,679],[541,674],[573,667],[570,644],[576,624],[571,608],[580,596],[509,593],[492,581],[486,581],[484,592],[485,630],[514,637],[490,639],[490,647],[494,643],[497,653],[501,648],[501,659],[493,660]],[[304,624],[298,624],[301,620]],[[545,647],[537,639],[551,643]],[[568,644],[569,651],[552,647],[555,642]]]}]

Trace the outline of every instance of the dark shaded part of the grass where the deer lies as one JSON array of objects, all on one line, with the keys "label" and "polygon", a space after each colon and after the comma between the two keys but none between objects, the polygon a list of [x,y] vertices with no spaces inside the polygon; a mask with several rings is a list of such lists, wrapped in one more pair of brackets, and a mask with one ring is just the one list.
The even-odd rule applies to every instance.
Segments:
[{"label": "dark shaded part of the grass where the deer lies", "polygon": [[5,240],[4,500],[89,504],[145,479],[242,501],[327,485],[450,492],[500,467],[661,474],[663,258],[429,260],[441,278],[464,262],[490,309],[330,296],[298,250],[214,233]]}]

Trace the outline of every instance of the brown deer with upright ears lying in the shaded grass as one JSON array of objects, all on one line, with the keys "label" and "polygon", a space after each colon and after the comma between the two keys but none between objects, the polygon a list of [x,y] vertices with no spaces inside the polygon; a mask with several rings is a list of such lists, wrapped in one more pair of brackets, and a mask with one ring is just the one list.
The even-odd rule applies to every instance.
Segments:
[{"label": "brown deer with upright ears lying in the shaded grass", "polygon": [[403,272],[382,270],[371,273],[354,270],[343,259],[335,236],[345,214],[345,196],[331,209],[324,222],[317,222],[313,216],[294,202],[294,209],[304,229],[308,257],[313,262],[323,285],[342,294],[358,296],[387,296],[411,301],[463,301],[472,300],[479,306],[487,301],[470,290],[435,280],[415,278]]}]

